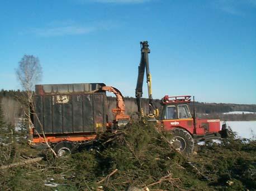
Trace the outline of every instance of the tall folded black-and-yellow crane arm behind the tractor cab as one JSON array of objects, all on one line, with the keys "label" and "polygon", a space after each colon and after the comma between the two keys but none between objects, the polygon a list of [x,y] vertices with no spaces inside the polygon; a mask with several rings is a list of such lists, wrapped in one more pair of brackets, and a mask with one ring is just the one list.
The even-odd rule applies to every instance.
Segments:
[{"label": "tall folded black-and-yellow crane arm behind the tractor cab", "polygon": [[153,105],[153,97],[152,97],[152,89],[151,89],[151,74],[149,71],[149,45],[148,41],[140,42],[140,51],[141,51],[141,58],[140,58],[140,65],[139,65],[139,72],[138,72],[138,80],[136,85],[136,101],[138,105],[138,111],[143,114],[143,109],[141,108],[141,97],[143,95],[143,81],[144,81],[144,74],[146,70],[146,83],[148,84],[148,96],[149,96],[149,115],[155,115],[155,107]]}]

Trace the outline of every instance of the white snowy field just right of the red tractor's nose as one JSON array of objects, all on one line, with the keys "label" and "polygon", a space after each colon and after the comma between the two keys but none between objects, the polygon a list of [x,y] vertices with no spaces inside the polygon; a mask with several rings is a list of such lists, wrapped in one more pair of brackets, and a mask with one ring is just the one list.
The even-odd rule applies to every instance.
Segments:
[{"label": "white snowy field just right of the red tractor's nose", "polygon": [[241,138],[254,139],[256,136],[256,121],[226,121],[227,126],[238,133]]}]

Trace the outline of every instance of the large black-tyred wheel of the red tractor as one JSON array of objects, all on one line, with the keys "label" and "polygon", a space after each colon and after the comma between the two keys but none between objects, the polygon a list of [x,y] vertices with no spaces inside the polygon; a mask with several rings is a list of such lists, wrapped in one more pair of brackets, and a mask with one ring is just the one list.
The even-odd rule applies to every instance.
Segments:
[{"label": "large black-tyred wheel of the red tractor", "polygon": [[170,139],[170,143],[174,149],[178,150],[182,154],[190,155],[194,150],[194,140],[188,131],[176,128],[172,130],[173,138]]}]

